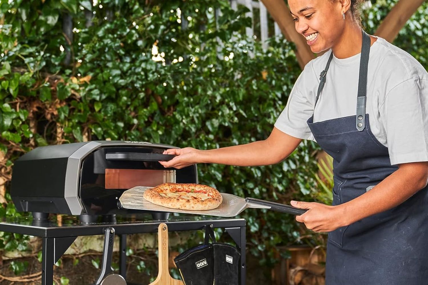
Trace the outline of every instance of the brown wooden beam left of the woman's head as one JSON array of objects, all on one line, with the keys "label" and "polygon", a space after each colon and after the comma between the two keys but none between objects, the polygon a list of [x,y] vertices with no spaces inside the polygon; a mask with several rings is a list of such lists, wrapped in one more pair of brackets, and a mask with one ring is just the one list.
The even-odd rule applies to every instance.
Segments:
[{"label": "brown wooden beam left of the woman's head", "polygon": [[[290,10],[285,4],[284,0],[261,0],[265,4],[266,9],[268,9],[273,20],[278,24],[279,29],[281,29],[282,34],[288,41],[294,42],[296,45],[297,61],[299,62],[300,67],[303,69],[305,65],[315,59],[315,54],[312,53],[308,44],[306,44],[306,39],[303,35],[300,35],[296,28],[294,27],[293,17],[290,14]],[[408,1],[408,0],[406,0]]]}]

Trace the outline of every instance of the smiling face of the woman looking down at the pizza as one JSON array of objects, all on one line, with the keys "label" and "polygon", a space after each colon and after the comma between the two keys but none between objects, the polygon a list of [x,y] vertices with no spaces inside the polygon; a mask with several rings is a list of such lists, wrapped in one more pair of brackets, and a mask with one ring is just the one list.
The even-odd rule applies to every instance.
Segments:
[{"label": "smiling face of the woman looking down at the pizza", "polygon": [[296,30],[306,38],[312,52],[319,53],[336,44],[345,27],[342,5],[334,0],[288,0]]}]

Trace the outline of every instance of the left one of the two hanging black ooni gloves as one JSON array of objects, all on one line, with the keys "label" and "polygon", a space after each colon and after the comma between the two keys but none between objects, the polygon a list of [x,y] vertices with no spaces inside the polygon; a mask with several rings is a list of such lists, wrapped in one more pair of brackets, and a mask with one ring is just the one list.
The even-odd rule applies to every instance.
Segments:
[{"label": "left one of the two hanging black ooni gloves", "polygon": [[214,231],[205,227],[205,242],[180,253],[174,262],[185,285],[214,284],[214,249],[209,238],[215,241]]}]

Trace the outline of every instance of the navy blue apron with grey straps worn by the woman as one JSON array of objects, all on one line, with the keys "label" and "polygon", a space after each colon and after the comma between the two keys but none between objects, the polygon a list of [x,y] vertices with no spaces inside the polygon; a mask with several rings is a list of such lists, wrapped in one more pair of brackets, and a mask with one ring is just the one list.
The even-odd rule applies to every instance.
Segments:
[{"label": "navy blue apron with grey straps worn by the woman", "polygon": [[[370,36],[363,32],[357,114],[317,123],[312,115],[307,121],[315,140],[333,157],[333,205],[370,191],[398,169],[389,161],[388,148],[370,130],[366,114],[369,53]],[[333,52],[321,72],[315,106],[332,57]],[[428,284],[428,187],[395,208],[328,234],[326,285],[354,284]]]}]

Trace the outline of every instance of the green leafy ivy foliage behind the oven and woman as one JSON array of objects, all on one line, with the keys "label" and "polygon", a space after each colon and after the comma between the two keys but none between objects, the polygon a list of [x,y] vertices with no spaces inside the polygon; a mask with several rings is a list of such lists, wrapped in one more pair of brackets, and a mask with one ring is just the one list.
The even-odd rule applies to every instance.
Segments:
[{"label": "green leafy ivy foliage behind the oven and woman", "polygon": [[[372,0],[366,31],[396,2]],[[111,139],[211,149],[267,138],[301,70],[282,37],[266,51],[246,38],[250,19],[238,8],[227,0],[0,0],[0,216],[21,215],[8,194],[11,167],[34,147]],[[72,35],[63,32],[67,19]],[[424,3],[394,42],[425,68],[427,21]],[[272,166],[198,165],[199,181],[241,197],[314,200],[318,149],[303,141]],[[250,209],[241,217],[261,265],[275,263],[278,245],[322,243],[291,215]],[[25,250],[27,239],[3,233],[0,247]]]}]

